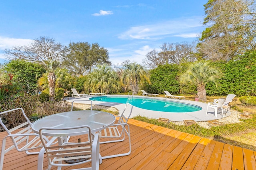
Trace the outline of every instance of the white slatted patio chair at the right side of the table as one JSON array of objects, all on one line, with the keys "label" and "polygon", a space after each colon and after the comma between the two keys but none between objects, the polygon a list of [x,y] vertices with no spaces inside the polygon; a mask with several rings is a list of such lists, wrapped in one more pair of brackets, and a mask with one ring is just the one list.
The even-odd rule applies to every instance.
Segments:
[{"label": "white slatted patio chair at the right side of the table", "polygon": [[[128,107],[129,107],[129,109],[128,109]],[[130,127],[127,124],[128,120],[130,118],[130,115],[132,113],[132,108],[133,108],[133,106],[131,104],[126,103],[122,114],[120,116],[116,116],[117,118],[119,118],[118,122],[116,124],[112,125],[111,127],[105,128],[104,130],[102,130],[100,132],[100,138],[116,139],[116,140],[108,140],[105,142],[100,142],[100,144],[111,143],[111,142],[122,142],[125,139],[125,134],[127,134],[128,140],[129,140],[129,147],[130,147],[129,152],[122,153],[122,154],[116,154],[116,155],[110,155],[110,156],[103,156],[102,159],[114,158],[114,157],[118,157],[118,156],[126,156],[132,152],[131,138],[130,138]],[[127,111],[128,111],[128,116],[125,117],[124,113],[127,114]],[[118,127],[121,127],[121,128],[118,128]],[[122,138],[122,136],[123,136],[123,138]],[[120,139],[120,138],[122,138],[122,139]]]}]

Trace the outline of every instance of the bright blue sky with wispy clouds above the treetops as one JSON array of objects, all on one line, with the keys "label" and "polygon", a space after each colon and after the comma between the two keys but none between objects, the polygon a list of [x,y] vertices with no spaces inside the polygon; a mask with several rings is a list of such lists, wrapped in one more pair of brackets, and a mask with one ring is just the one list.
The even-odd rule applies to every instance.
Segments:
[{"label": "bright blue sky with wispy clouds above the treetops", "polygon": [[3,50],[40,36],[98,43],[112,64],[142,63],[163,43],[193,42],[204,30],[208,0],[1,0],[0,63]]}]

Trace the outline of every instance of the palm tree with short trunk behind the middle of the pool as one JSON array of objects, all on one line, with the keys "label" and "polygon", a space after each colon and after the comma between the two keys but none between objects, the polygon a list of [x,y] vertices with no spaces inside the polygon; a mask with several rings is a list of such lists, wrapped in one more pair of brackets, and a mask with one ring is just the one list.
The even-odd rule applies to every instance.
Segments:
[{"label": "palm tree with short trunk behind the middle of the pool", "polygon": [[125,64],[124,67],[121,81],[124,85],[132,85],[132,92],[134,94],[138,93],[139,85],[143,85],[145,81],[149,84],[151,83],[149,74],[142,65],[133,62]]}]

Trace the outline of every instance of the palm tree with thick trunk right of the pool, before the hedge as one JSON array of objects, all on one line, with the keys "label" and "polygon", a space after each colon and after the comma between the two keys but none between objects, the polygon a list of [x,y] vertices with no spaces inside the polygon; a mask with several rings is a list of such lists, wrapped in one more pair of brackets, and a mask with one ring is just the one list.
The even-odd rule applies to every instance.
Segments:
[{"label": "palm tree with thick trunk right of the pool, before the hedge", "polygon": [[179,81],[182,84],[191,82],[196,85],[199,100],[206,102],[206,84],[212,81],[217,87],[217,80],[222,77],[222,71],[218,67],[210,65],[209,61],[197,61],[190,63],[186,72],[180,75]]}]

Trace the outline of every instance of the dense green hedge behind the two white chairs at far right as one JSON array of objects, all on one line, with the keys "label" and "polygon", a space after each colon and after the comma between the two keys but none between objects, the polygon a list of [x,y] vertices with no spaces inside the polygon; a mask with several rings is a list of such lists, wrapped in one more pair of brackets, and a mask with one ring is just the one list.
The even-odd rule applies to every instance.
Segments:
[{"label": "dense green hedge behind the two white chairs at far right", "polygon": [[256,96],[256,51],[248,51],[228,62],[215,63],[222,69],[224,77],[218,81],[218,88],[213,83],[206,85],[207,95]]}]

